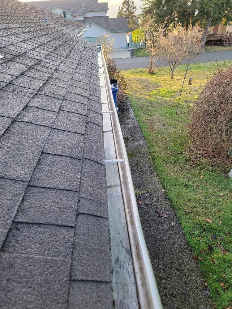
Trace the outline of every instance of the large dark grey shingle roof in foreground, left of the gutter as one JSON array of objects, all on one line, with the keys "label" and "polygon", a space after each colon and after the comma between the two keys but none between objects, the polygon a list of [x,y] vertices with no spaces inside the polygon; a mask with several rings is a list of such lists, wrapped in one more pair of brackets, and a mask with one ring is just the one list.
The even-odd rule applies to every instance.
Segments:
[{"label": "large dark grey shingle roof in foreground, left of the gutter", "polygon": [[108,309],[96,46],[33,12],[1,1],[0,308]]}]

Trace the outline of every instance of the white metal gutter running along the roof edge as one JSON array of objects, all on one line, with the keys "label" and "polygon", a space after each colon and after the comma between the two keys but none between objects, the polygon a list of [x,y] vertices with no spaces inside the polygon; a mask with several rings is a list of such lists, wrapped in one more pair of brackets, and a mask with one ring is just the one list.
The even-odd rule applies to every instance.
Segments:
[{"label": "white metal gutter running along the roof edge", "polygon": [[[98,52],[98,60],[99,60],[99,72],[100,72],[100,83],[102,87],[102,106],[104,106],[103,111],[107,113],[103,113],[103,132],[108,133],[112,132],[113,139],[105,139],[104,133],[104,141],[107,140],[107,144],[105,145],[105,154],[111,153],[113,156],[107,157],[106,159],[109,161],[114,160],[114,163],[107,162],[106,166],[106,174],[107,171],[111,176],[114,176],[114,172],[119,172],[120,179],[120,189],[123,199],[123,206],[127,224],[127,232],[129,236],[131,256],[132,256],[132,267],[134,269],[134,277],[136,282],[137,289],[137,302],[135,305],[135,299],[131,299],[131,304],[127,308],[135,309],[138,306],[141,309],[162,309],[162,304],[157,288],[157,284],[155,281],[155,277],[153,274],[153,269],[151,266],[150,258],[148,255],[146,243],[144,240],[144,235],[140,223],[137,201],[135,198],[134,186],[131,178],[131,171],[129,166],[129,161],[127,157],[127,151],[124,144],[121,127],[118,121],[118,115],[116,112],[116,108],[114,105],[113,94],[110,86],[110,79],[106,68],[105,59],[102,53],[102,50]],[[106,96],[105,96],[106,94]],[[107,102],[105,101],[107,97]],[[105,131],[106,129],[106,131]],[[120,160],[120,161],[118,161]],[[114,170],[111,167],[109,169],[109,165],[114,164]],[[115,170],[115,166],[118,166],[117,170]],[[117,184],[116,184],[117,185]],[[109,198],[112,198],[108,194]],[[114,202],[114,200],[112,201]],[[109,203],[108,203],[109,204]],[[108,205],[110,211],[110,205]],[[118,215],[115,216],[114,220],[117,220]],[[110,220],[110,213],[109,213]],[[123,227],[122,227],[123,228]],[[121,228],[121,229],[122,229]],[[110,231],[110,233],[112,233]],[[114,240],[114,239],[113,239]],[[114,243],[111,246],[114,247]],[[114,248],[113,248],[114,249]],[[116,248],[117,250],[117,248]],[[114,263],[114,261],[113,261]],[[114,268],[114,264],[113,264]],[[126,269],[123,270],[126,272]],[[113,273],[114,276],[114,273]],[[133,276],[132,276],[133,277]],[[133,281],[133,278],[131,278]],[[115,289],[115,287],[114,287]],[[117,291],[118,292],[118,291]],[[118,292],[120,293],[120,291]],[[122,292],[123,293],[123,292]],[[132,286],[132,294],[134,296],[133,286]],[[115,295],[115,294],[114,294]],[[124,297],[124,296],[123,296]],[[135,296],[134,296],[135,297]],[[117,306],[115,302],[115,308],[124,308],[123,299],[120,305]]]}]

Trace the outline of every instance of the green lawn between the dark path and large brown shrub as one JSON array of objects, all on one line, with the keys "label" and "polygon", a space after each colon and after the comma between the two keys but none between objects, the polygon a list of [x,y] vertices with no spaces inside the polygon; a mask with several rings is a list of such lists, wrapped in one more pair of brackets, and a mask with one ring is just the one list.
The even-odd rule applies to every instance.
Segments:
[{"label": "green lawn between the dark path and large brown shrub", "polygon": [[168,67],[158,68],[153,75],[144,69],[122,74],[130,85],[127,94],[154,168],[197,256],[213,301],[218,309],[225,309],[232,306],[232,180],[226,177],[231,166],[215,167],[188,150],[187,104],[197,98],[211,65],[192,64],[191,69],[193,84],[187,85],[187,80],[184,84],[178,115],[186,65],[175,70],[174,80]]}]

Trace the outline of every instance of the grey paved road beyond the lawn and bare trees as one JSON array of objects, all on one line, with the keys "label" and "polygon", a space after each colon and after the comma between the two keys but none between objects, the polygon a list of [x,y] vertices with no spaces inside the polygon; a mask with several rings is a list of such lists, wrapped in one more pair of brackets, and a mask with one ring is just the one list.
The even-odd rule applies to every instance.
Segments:
[{"label": "grey paved road beyond the lawn and bare trees", "polygon": [[[134,58],[124,58],[124,59],[114,59],[118,65],[119,70],[130,70],[148,67],[150,57],[134,57]],[[204,53],[198,58],[195,63],[201,62],[214,62],[215,59],[221,60],[232,60],[232,51],[223,51],[218,53]],[[193,61],[183,61],[183,63],[193,63]],[[167,66],[160,60],[156,62],[156,66]]]}]

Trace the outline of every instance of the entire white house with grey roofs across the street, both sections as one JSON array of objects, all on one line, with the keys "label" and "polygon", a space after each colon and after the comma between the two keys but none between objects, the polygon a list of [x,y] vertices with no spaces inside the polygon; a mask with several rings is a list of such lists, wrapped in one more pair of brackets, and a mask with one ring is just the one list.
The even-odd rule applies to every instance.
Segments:
[{"label": "entire white house with grey roofs across the street, both sections", "polygon": [[83,22],[87,29],[83,34],[86,40],[97,43],[99,39],[107,34],[114,39],[115,48],[127,47],[127,32],[129,31],[127,19],[109,18],[107,2],[98,0],[48,0],[27,2],[52,13],[62,15],[67,19]]}]

